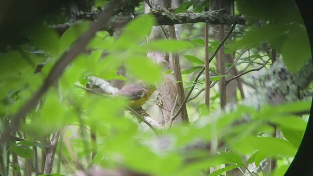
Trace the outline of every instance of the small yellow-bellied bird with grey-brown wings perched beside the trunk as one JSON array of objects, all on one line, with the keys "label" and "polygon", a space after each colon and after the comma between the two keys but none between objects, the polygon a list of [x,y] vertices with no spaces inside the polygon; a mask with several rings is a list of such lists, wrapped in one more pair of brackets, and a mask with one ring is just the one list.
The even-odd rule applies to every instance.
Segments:
[{"label": "small yellow-bellied bird with grey-brown wings perched beside the trunk", "polygon": [[125,85],[113,95],[117,96],[117,98],[127,99],[130,108],[139,110],[141,109],[142,103],[148,101],[155,91],[155,85],[138,83]]}]

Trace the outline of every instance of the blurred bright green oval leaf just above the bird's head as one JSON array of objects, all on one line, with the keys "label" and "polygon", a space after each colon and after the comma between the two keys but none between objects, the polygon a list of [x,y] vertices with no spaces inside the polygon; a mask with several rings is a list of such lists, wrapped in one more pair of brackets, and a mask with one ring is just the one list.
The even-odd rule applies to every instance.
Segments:
[{"label": "blurred bright green oval leaf just above the bird's head", "polygon": [[161,69],[146,57],[132,56],[127,59],[126,68],[134,77],[146,82],[156,83],[161,79]]}]

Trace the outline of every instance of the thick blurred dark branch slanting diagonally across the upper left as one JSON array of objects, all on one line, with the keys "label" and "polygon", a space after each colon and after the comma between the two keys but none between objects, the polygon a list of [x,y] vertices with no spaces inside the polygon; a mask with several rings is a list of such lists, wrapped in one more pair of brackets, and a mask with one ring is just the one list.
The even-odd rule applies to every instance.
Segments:
[{"label": "thick blurred dark branch slanting diagonally across the upper left", "polygon": [[119,0],[113,0],[106,6],[104,10],[96,19],[95,22],[92,22],[89,30],[82,35],[77,42],[71,47],[63,56],[57,61],[57,63],[51,69],[49,75],[45,79],[42,87],[32,96],[30,100],[25,103],[22,108],[12,116],[11,125],[8,126],[5,131],[2,133],[0,138],[0,144],[2,144],[10,135],[16,132],[20,128],[21,120],[25,117],[29,110],[32,110],[38,100],[44,95],[45,91],[58,79],[62,74],[66,66],[84,49],[89,41],[94,37],[95,33],[101,30],[103,24],[107,23],[110,17],[114,14],[114,10],[119,7]]}]

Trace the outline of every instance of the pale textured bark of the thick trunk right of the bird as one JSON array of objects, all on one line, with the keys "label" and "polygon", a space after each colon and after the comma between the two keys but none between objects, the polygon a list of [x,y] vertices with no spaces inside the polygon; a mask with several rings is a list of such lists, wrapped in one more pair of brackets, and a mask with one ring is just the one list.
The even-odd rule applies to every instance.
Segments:
[{"label": "pale textured bark of the thick trunk right of the bird", "polygon": [[[149,0],[153,8],[170,8],[170,0]],[[149,6],[146,4],[145,12],[150,11]],[[167,32],[167,36],[170,38],[176,38],[174,26],[164,26],[163,28]],[[149,40],[162,39],[165,35],[161,26],[154,26],[152,28]],[[181,102],[184,99],[184,91],[182,87],[182,79],[179,66],[179,57],[177,54],[171,54],[169,57],[167,54],[162,52],[151,51],[148,53],[150,57],[156,64],[163,66],[164,70],[171,69],[173,74],[164,74],[164,79],[162,85],[158,87],[157,99],[162,103],[163,107],[161,109],[162,118],[164,120],[165,127],[168,127],[171,121],[171,110],[174,107],[176,96],[178,96],[178,105],[176,109],[181,106]],[[177,82],[178,81],[178,82]],[[185,105],[180,111],[179,116],[175,119],[175,123],[181,123],[182,121],[188,122],[188,115]]]}]

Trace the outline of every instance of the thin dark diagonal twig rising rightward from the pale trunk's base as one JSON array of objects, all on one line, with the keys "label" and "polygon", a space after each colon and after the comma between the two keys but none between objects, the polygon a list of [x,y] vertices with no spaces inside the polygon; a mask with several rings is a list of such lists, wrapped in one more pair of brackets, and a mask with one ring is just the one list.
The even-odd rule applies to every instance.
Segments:
[{"label": "thin dark diagonal twig rising rightward from the pale trunk's base", "polygon": [[[215,55],[217,54],[217,52],[219,51],[219,49],[222,47],[222,45],[225,43],[225,41],[227,40],[227,38],[230,36],[230,34],[232,33],[232,31],[234,30],[236,24],[233,24],[232,27],[229,30],[229,33],[225,36],[224,40],[217,46],[216,50],[214,51],[214,53],[212,54],[212,56],[209,59],[209,63],[213,60],[213,58],[215,57]],[[200,78],[201,74],[203,73],[205,67],[203,66],[203,68],[200,70],[199,74],[197,75],[195,81],[193,84],[196,84],[198,79]],[[192,90],[195,88],[196,85],[192,86],[187,94],[187,96],[185,97],[184,101],[181,103],[179,110],[176,112],[176,114],[172,117],[173,121],[175,120],[175,118],[179,115],[179,112],[182,110],[182,105],[185,104],[189,98],[189,96],[192,93]]]}]

